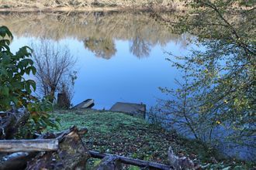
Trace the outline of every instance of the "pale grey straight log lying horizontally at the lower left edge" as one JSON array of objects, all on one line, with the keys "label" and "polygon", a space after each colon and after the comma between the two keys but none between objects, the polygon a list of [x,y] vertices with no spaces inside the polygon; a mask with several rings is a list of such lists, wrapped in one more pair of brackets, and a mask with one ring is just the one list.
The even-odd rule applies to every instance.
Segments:
[{"label": "pale grey straight log lying horizontally at the lower left edge", "polygon": [[1,140],[0,151],[57,151],[58,145],[59,143],[56,139]]}]

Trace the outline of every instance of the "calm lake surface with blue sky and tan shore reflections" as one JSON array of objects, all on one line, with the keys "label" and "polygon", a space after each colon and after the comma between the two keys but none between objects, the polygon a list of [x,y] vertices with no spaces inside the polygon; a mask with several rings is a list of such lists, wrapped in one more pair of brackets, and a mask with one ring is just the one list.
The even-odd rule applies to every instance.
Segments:
[{"label": "calm lake surface with blue sky and tan shore reflections", "polygon": [[187,36],[172,35],[148,13],[7,13],[0,23],[13,32],[13,51],[40,37],[67,45],[78,59],[72,103],[92,98],[97,109],[118,101],[154,106],[165,97],[158,87],[175,88],[180,76],[165,52],[185,55],[192,48]]}]

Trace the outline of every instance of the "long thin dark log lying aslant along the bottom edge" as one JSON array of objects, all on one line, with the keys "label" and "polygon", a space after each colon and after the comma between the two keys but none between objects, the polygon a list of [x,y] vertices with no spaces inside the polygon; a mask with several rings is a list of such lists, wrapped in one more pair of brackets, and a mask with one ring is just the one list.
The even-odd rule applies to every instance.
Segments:
[{"label": "long thin dark log lying aslant along the bottom edge", "polygon": [[136,165],[142,168],[155,168],[155,169],[164,169],[164,170],[170,170],[173,169],[169,165],[164,165],[164,164],[159,164],[155,162],[147,162],[147,161],[142,161],[139,159],[133,159],[133,158],[127,158],[124,156],[119,156],[119,155],[109,155],[109,154],[102,154],[97,151],[89,151],[90,155],[92,155],[93,158],[105,158],[106,156],[116,156],[118,158],[119,162],[122,162],[124,164],[128,165]]}]

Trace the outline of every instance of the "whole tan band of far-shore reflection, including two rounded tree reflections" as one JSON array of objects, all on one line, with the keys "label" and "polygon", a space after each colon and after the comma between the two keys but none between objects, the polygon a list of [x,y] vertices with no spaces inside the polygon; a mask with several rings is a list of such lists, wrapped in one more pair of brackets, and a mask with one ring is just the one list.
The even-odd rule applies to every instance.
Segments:
[{"label": "whole tan band of far-shore reflection, including two rounded tree reflections", "polygon": [[[171,13],[162,14],[172,19]],[[95,56],[109,59],[116,53],[113,39],[130,40],[130,52],[139,58],[148,56],[153,46],[170,41],[185,48],[189,36],[170,33],[168,26],[149,13],[71,12],[71,13],[0,13],[0,22],[16,35],[45,37],[56,41],[73,37],[85,43]]]}]

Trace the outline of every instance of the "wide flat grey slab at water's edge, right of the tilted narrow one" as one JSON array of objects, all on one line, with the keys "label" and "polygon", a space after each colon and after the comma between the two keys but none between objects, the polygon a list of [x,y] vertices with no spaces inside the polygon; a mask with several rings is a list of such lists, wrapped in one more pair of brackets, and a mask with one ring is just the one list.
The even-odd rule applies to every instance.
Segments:
[{"label": "wide flat grey slab at water's edge, right of the tilted narrow one", "polygon": [[110,111],[123,112],[132,116],[145,118],[146,104],[117,102],[110,108]]}]

